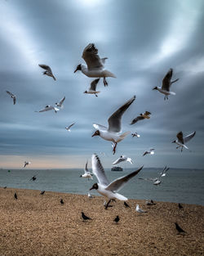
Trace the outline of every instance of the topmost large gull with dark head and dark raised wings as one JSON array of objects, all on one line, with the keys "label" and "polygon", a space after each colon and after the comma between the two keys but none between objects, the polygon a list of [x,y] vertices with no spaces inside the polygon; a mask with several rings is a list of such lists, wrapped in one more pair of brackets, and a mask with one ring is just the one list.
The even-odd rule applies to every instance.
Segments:
[{"label": "topmost large gull with dark head and dark raised wings", "polygon": [[79,64],[77,69],[74,70],[74,73],[81,70],[82,73],[86,74],[89,78],[104,78],[104,86],[108,85],[105,78],[116,78],[116,76],[109,70],[104,70],[104,62],[108,58],[100,58],[98,55],[98,49],[95,48],[94,43],[89,43],[85,47],[82,53],[82,58],[86,61],[86,65]]}]

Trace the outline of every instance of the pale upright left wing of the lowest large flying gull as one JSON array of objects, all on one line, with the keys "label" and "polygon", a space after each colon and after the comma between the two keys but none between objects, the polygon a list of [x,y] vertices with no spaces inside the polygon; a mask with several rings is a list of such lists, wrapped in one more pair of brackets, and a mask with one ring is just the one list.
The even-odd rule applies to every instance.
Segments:
[{"label": "pale upright left wing of the lowest large flying gull", "polygon": [[108,186],[109,180],[104,173],[104,168],[100,163],[100,158],[98,157],[98,155],[95,155],[95,154],[92,155],[91,164],[92,164],[92,173],[95,174],[99,183],[101,185]]}]

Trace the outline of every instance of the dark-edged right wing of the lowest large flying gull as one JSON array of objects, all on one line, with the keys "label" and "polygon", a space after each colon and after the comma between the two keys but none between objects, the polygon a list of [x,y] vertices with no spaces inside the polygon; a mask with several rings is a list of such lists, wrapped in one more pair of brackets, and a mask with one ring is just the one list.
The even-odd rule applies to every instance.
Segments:
[{"label": "dark-edged right wing of the lowest large flying gull", "polygon": [[114,180],[113,182],[111,182],[109,184],[109,186],[106,187],[106,190],[109,191],[119,191],[122,189],[122,186],[124,186],[126,184],[126,182],[128,182],[132,177],[135,177],[135,175],[137,175],[138,173],[140,173],[140,170],[143,168],[143,166],[141,166],[139,169],[137,169],[135,172],[130,173],[126,176],[123,177],[119,177],[118,179]]}]

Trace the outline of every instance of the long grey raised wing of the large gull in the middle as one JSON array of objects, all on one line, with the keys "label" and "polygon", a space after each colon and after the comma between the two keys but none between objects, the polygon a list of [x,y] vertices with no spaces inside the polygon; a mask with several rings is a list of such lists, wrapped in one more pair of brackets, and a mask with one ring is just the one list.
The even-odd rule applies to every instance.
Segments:
[{"label": "long grey raised wing of the large gull in the middle", "polygon": [[118,110],[116,110],[113,115],[111,115],[108,119],[109,122],[109,132],[121,132],[121,119],[124,112],[127,110],[131,103],[135,101],[135,96],[131,97],[129,101],[126,101],[124,105],[122,105]]}]

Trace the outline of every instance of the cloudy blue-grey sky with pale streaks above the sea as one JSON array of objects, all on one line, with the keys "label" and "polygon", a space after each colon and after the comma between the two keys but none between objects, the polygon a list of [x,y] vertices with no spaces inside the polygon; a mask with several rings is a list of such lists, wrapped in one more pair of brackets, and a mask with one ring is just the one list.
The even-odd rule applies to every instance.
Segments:
[{"label": "cloudy blue-grey sky with pale streaks above the sea", "polygon": [[[0,0],[0,168],[83,168],[100,155],[111,168],[204,167],[204,2],[202,0]],[[99,97],[83,93],[93,79],[80,71],[88,43],[95,43],[105,68],[117,76],[100,79]],[[42,75],[50,65],[56,81]],[[152,90],[174,70],[168,101]],[[16,95],[16,105],[6,91]],[[118,107],[136,96],[122,117],[126,137],[111,142],[91,137],[93,123],[107,126]],[[64,109],[37,113],[66,97]],[[130,125],[149,110],[150,119]],[[71,132],[66,126],[75,123]],[[176,134],[196,131],[189,150],[175,149]],[[155,148],[155,155],[142,156]],[[101,154],[104,152],[104,154]],[[89,163],[89,167],[91,164]]]}]

